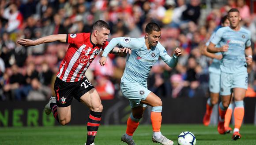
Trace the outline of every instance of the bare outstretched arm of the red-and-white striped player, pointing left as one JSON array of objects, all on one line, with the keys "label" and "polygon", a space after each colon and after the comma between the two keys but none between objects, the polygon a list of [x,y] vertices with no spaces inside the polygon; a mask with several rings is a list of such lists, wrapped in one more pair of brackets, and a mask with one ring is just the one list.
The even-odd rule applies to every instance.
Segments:
[{"label": "bare outstretched arm of the red-and-white striped player, pointing left", "polygon": [[34,46],[39,45],[41,43],[50,43],[54,41],[66,42],[67,41],[67,34],[57,34],[57,35],[49,35],[37,40],[30,40],[30,39],[23,39],[17,41],[20,45],[23,46]]}]

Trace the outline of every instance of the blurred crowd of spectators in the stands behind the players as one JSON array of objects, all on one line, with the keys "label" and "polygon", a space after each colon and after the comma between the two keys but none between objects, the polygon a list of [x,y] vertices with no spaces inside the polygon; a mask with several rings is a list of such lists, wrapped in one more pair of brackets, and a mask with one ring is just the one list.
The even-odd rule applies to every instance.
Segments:
[{"label": "blurred crowd of spectators in the stands behind the players", "polygon": [[[253,0],[252,0],[253,1]],[[161,26],[160,42],[172,56],[180,47],[183,55],[176,68],[161,58],[152,67],[148,88],[160,97],[208,97],[208,67],[211,59],[202,49],[220,27],[232,7],[241,15],[241,25],[252,33],[253,65],[248,69],[247,97],[256,97],[256,16],[250,0],[0,0],[0,101],[48,100],[67,43],[23,47],[19,38],[89,33],[97,20],[111,27],[113,37],[144,36],[148,22]],[[122,98],[120,78],[126,58],[110,54],[101,67],[95,58],[86,72],[102,100]]]}]

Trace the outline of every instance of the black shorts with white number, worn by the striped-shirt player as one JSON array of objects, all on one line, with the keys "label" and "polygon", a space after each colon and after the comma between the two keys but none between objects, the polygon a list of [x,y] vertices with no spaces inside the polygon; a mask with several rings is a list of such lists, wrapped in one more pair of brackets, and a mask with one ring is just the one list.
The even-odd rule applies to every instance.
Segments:
[{"label": "black shorts with white number, worn by the striped-shirt player", "polygon": [[78,82],[64,82],[56,77],[54,83],[54,91],[56,94],[57,106],[67,107],[71,105],[73,97],[80,101],[83,94],[87,93],[94,86],[89,82],[87,77],[84,77]]}]

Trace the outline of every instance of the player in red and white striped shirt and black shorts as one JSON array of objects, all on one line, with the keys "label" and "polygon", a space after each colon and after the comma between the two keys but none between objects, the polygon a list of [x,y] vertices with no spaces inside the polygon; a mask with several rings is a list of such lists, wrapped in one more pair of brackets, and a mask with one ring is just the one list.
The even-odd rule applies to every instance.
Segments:
[{"label": "player in red and white striped shirt and black shorts", "polygon": [[[17,43],[23,46],[34,46],[54,41],[66,42],[68,51],[60,64],[60,70],[54,83],[56,98],[52,97],[45,105],[45,113],[53,112],[55,119],[66,125],[71,120],[71,102],[75,98],[90,109],[87,123],[86,145],[94,145],[102,117],[102,103],[98,92],[85,76],[85,72],[94,58],[108,45],[109,25],[99,20],[94,23],[92,33],[58,34],[39,38],[38,40],[20,39]],[[122,50],[115,47],[112,52],[124,56]]]}]

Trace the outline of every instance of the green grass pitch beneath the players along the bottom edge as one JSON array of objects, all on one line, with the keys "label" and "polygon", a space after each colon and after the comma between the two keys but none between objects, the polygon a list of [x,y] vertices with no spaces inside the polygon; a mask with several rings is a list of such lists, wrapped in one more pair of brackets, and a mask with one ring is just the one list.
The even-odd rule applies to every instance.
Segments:
[{"label": "green grass pitch beneath the players along the bottom edge", "polygon": [[[126,126],[100,126],[96,145],[126,145],[121,142]],[[161,132],[177,145],[177,137],[182,131],[190,131],[196,136],[196,145],[256,145],[256,126],[243,125],[242,138],[231,139],[232,134],[220,135],[217,127],[203,125],[171,124],[162,125]],[[84,145],[86,126],[56,127],[0,127],[1,145]],[[133,139],[136,145],[158,145],[151,141],[151,125],[139,125]],[[159,144],[160,145],[160,144]]]}]

